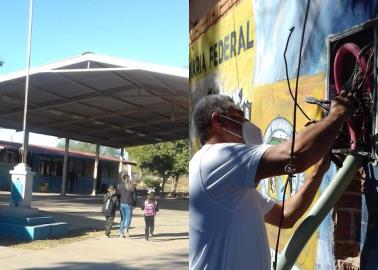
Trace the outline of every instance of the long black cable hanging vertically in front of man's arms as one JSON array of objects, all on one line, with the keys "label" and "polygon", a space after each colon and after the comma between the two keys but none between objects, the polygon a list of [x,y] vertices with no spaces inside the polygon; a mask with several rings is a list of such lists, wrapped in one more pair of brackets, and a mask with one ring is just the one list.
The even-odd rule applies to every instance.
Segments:
[{"label": "long black cable hanging vertically in front of man's arms", "polygon": [[[278,227],[278,237],[277,237],[277,242],[276,242],[276,251],[275,251],[274,263],[273,263],[274,270],[277,269],[278,245],[279,245],[279,241],[280,241],[281,227],[282,227],[283,216],[284,216],[286,188],[287,188],[289,181],[291,181],[291,178],[292,178],[293,173],[295,171],[295,167],[293,166],[293,159],[294,159],[294,146],[295,146],[295,132],[296,132],[296,127],[297,127],[297,119],[296,119],[297,118],[296,117],[297,116],[297,106],[296,106],[296,104],[297,104],[297,99],[298,99],[298,80],[299,80],[299,73],[300,73],[300,66],[301,66],[303,40],[304,40],[304,34],[305,34],[309,9],[310,9],[310,0],[307,0],[306,14],[305,14],[305,19],[304,19],[304,22],[303,22],[303,29],[302,29],[301,44],[300,44],[300,47],[299,47],[297,78],[296,78],[296,82],[295,82],[294,112],[293,112],[293,139],[292,139],[291,151],[290,151],[290,163],[285,167],[285,171],[288,173],[289,177],[286,180],[285,188],[284,188],[284,194],[283,194],[280,225]],[[291,32],[292,32],[292,30],[291,30]],[[290,33],[290,35],[291,35],[291,33]],[[290,37],[290,35],[289,35],[289,37]],[[288,42],[289,41],[287,41],[287,43]],[[286,49],[285,49],[285,52],[286,52]],[[286,64],[286,61],[285,61],[285,64]],[[289,87],[290,87],[290,82],[289,82]]]}]

